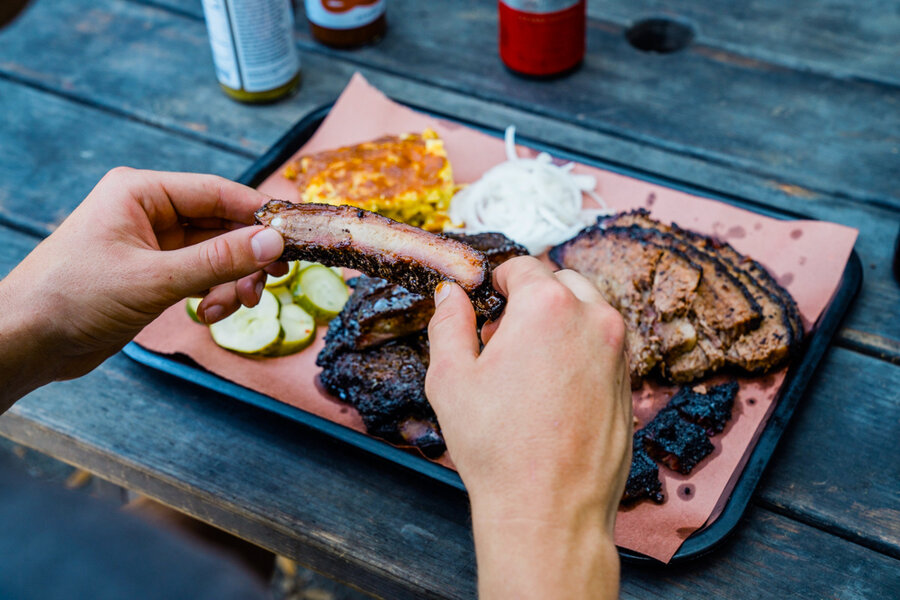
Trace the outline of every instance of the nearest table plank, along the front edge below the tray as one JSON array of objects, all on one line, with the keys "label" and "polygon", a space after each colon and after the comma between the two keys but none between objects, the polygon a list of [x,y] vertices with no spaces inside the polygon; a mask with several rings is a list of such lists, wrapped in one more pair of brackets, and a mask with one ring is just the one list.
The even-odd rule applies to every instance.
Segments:
[{"label": "nearest table plank, along the front edge below the tray", "polygon": [[[27,398],[0,432],[383,597],[474,597],[462,495],[123,357]],[[890,597],[897,566],[751,509],[709,559],[626,566],[623,597]]]}]

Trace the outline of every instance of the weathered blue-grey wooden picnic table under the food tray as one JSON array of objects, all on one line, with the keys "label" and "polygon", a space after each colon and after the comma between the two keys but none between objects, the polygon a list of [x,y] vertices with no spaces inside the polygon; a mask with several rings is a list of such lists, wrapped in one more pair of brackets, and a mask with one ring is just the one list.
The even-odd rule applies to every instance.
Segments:
[{"label": "weathered blue-grey wooden picnic table under the food tray", "polygon": [[[354,71],[394,98],[859,229],[861,293],[750,508],[711,555],[624,565],[626,598],[900,596],[900,8],[873,0],[592,0],[588,55],[506,72],[492,0],[391,0],[339,52],[297,28],[303,87],[218,90],[200,0],[35,0],[0,32],[0,274],[110,168],[236,177]],[[673,18],[669,54],[625,32]],[[68,258],[67,258],[68,259]],[[464,494],[122,355],[40,389],[0,433],[385,598],[472,598]]]}]

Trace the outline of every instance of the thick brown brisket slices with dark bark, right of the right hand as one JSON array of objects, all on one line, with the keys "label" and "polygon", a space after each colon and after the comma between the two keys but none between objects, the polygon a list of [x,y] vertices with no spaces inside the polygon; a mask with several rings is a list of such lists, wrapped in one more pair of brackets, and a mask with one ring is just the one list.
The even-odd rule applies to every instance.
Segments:
[{"label": "thick brown brisket slices with dark bark, right of the right hand", "polygon": [[[633,384],[654,370],[680,383],[726,366],[765,372],[802,339],[796,303],[758,263],[643,209],[601,218],[551,249],[550,258],[591,279],[622,313]],[[696,284],[685,262],[701,274]],[[632,292],[650,280],[652,292]]]}]

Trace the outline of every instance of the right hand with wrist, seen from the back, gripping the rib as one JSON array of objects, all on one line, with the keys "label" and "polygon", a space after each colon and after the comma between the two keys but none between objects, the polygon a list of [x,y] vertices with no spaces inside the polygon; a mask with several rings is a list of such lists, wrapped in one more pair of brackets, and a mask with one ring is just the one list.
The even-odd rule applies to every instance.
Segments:
[{"label": "right hand with wrist, seen from the back, gripping the rib", "polygon": [[426,395],[472,503],[483,598],[616,597],[615,515],[631,462],[621,316],[573,271],[531,257],[494,271],[482,330],[443,284]]}]

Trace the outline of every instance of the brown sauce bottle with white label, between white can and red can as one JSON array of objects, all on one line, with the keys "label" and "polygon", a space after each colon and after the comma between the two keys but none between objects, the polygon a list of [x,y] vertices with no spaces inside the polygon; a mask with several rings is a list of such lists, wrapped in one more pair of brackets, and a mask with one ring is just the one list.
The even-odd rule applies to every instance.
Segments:
[{"label": "brown sauce bottle with white label, between white can and red can", "polygon": [[387,28],[387,0],[305,0],[306,18],[316,41],[353,48],[378,41]]}]

